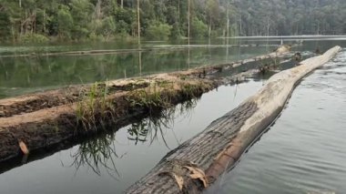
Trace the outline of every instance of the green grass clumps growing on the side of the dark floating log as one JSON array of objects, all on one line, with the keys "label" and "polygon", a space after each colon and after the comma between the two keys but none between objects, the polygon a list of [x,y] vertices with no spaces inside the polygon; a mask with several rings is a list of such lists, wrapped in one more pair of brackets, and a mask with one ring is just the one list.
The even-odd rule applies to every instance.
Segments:
[{"label": "green grass clumps growing on the side of the dark floating log", "polygon": [[211,88],[200,80],[181,81],[173,83],[168,80],[154,80],[145,88],[135,88],[125,96],[125,104],[118,107],[109,94],[112,93],[104,83],[95,83],[79,94],[80,101],[76,103],[77,133],[97,132],[106,128],[106,124],[115,121],[117,111],[131,114],[136,111],[148,112],[148,115],[168,114],[167,110],[178,102],[199,97]]}]

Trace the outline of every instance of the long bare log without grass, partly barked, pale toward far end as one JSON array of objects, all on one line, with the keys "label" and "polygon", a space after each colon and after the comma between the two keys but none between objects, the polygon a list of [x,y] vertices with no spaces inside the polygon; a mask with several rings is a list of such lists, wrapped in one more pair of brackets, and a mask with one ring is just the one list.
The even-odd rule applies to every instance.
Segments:
[{"label": "long bare log without grass, partly barked, pale toward far end", "polygon": [[234,166],[240,155],[278,117],[300,79],[340,50],[340,46],[335,46],[322,56],[309,58],[301,66],[271,77],[257,94],[169,152],[127,193],[196,193],[207,188]]}]

